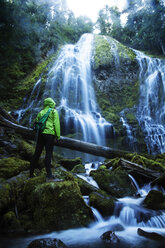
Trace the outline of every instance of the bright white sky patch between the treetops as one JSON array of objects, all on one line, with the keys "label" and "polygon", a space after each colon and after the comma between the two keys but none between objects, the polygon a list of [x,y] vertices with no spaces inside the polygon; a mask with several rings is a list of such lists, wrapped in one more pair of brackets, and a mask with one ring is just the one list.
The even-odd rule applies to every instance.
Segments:
[{"label": "bright white sky patch between the treetops", "polygon": [[105,5],[117,6],[121,11],[127,5],[127,0],[67,0],[67,5],[75,17],[85,15],[96,22],[99,10]]}]

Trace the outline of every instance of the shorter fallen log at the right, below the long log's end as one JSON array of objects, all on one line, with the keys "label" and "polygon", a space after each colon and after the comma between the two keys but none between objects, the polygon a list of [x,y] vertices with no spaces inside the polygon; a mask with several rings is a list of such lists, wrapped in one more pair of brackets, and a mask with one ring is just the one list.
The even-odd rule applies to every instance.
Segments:
[{"label": "shorter fallen log at the right, below the long log's end", "polygon": [[145,168],[142,165],[130,162],[123,158],[120,159],[120,164],[123,168],[130,170],[138,175],[148,177],[150,179],[156,179],[163,174],[163,173],[159,173],[157,171]]}]

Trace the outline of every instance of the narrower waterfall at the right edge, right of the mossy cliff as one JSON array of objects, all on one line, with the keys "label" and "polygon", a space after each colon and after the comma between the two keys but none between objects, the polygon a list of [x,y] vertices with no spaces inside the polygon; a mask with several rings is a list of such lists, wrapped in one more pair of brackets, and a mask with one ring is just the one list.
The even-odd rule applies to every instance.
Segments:
[{"label": "narrower waterfall at the right edge, right of the mossy cliff", "polygon": [[165,152],[165,63],[135,51],[140,65],[137,119],[149,153]]}]

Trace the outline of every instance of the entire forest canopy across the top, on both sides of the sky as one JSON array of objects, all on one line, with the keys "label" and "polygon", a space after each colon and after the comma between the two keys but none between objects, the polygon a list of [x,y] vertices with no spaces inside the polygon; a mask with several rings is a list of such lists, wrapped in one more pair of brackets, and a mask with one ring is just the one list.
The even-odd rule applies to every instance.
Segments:
[{"label": "entire forest canopy across the top, on both sides of the sky", "polygon": [[[120,12],[105,6],[96,23],[75,17],[67,0],[0,1],[0,97],[5,100],[38,63],[61,45],[75,43],[83,33],[97,29],[132,48],[165,53],[165,5],[163,0],[127,0]],[[123,25],[121,17],[127,16]]]}]

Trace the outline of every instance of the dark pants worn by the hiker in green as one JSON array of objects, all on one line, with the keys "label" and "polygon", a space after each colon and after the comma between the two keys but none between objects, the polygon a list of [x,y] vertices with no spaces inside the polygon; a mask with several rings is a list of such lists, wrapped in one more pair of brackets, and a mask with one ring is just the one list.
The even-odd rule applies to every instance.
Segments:
[{"label": "dark pants worn by the hiker in green", "polygon": [[39,157],[44,147],[46,150],[44,163],[45,163],[47,176],[48,177],[52,176],[51,159],[52,159],[52,153],[53,153],[53,145],[54,145],[54,135],[43,134],[43,133],[38,134],[35,153],[30,163],[30,177],[33,176],[34,169],[37,168],[37,162],[39,160]]}]

